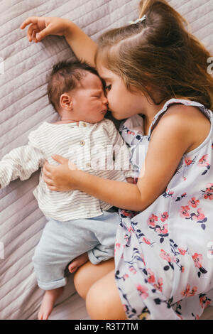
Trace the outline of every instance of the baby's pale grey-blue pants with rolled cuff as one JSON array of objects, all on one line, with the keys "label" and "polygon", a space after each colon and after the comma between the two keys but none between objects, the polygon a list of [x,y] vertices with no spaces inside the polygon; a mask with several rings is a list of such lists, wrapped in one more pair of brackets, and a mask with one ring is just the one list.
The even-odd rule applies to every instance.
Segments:
[{"label": "baby's pale grey-blue pants with rolled cuff", "polygon": [[85,252],[88,252],[92,264],[114,257],[119,222],[119,214],[108,211],[87,219],[67,222],[49,220],[33,256],[40,289],[52,290],[65,286],[67,264]]}]

